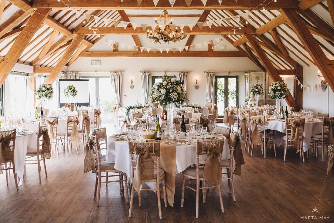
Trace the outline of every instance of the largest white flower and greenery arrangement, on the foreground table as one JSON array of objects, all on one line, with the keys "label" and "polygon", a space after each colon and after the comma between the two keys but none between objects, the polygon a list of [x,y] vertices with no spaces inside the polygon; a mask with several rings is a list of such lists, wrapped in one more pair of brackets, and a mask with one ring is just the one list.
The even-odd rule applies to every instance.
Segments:
[{"label": "largest white flower and greenery arrangement, on the foreground table", "polygon": [[160,105],[174,103],[179,106],[187,97],[183,83],[183,81],[176,80],[175,76],[169,78],[163,75],[162,81],[152,86],[150,98],[152,101],[159,102]]}]

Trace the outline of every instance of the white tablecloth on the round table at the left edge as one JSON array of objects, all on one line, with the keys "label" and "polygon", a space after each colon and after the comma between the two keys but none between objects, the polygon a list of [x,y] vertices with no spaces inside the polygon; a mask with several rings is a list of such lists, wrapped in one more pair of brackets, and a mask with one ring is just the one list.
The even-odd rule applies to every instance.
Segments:
[{"label": "white tablecloth on the round table at the left edge", "polygon": [[19,177],[18,185],[23,183],[24,163],[27,155],[27,149],[37,147],[37,135],[35,133],[29,133],[25,135],[16,135],[15,139],[15,171]]}]

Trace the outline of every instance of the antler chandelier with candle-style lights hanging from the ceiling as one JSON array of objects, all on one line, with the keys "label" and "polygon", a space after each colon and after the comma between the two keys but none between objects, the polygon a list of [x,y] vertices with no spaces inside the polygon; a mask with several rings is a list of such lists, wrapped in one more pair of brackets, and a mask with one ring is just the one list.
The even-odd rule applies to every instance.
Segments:
[{"label": "antler chandelier with candle-style lights hanging from the ceiling", "polygon": [[[163,20],[162,24],[159,24],[159,21]],[[154,43],[160,43],[160,41],[164,42],[178,42],[184,38],[186,38],[186,34],[181,31],[180,34],[177,27],[173,25],[172,19],[169,16],[167,10],[164,10],[159,16],[158,20],[155,19],[156,27],[153,30],[147,30],[147,38],[153,40]],[[175,32],[174,32],[175,27]]]}]

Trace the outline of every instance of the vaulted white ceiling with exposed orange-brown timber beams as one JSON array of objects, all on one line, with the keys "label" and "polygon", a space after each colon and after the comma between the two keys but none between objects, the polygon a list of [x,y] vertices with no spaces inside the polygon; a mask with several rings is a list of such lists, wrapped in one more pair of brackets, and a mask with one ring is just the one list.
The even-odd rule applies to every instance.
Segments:
[{"label": "vaulted white ceiling with exposed orange-brown timber beams", "polygon": [[[189,7],[186,2],[191,2]],[[333,0],[223,0],[221,4],[207,0],[205,6],[201,0],[176,0],[173,7],[167,0],[159,0],[156,6],[153,0],[142,0],[139,5],[137,0],[0,0],[0,79],[16,62],[56,77],[65,65],[81,56],[166,56],[168,52],[148,53],[147,48],[174,47],[177,56],[246,56],[268,72],[271,68],[266,61],[276,70],[315,64],[333,89],[333,5]],[[176,26],[185,26],[187,37],[173,45],[156,46],[140,26],[154,23],[163,9],[168,10]],[[245,13],[249,13],[247,17]],[[122,23],[115,27],[114,20],[130,23],[126,28]],[[29,22],[37,27],[30,27]],[[198,27],[197,22],[204,23]],[[194,27],[190,29],[187,26],[191,23]],[[210,49],[210,40],[215,44],[217,39],[223,40],[224,52],[218,52],[220,47]],[[109,41],[117,43],[114,49],[106,44]],[[178,51],[191,45],[175,52],[175,48]]]}]

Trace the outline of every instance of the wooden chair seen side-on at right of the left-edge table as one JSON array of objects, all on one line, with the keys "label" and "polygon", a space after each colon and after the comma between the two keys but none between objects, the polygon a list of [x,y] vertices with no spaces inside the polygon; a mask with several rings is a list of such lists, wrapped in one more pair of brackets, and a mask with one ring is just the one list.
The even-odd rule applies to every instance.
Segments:
[{"label": "wooden chair seen side-on at right of the left-edge table", "polygon": [[[25,175],[25,165],[36,165],[37,164],[39,182],[41,182],[41,165],[40,165],[41,161],[43,161],[45,177],[47,177],[46,165],[45,165],[45,154],[43,153],[43,145],[44,143],[47,143],[47,142],[45,141],[45,138],[43,138],[43,135],[42,135],[42,133],[46,130],[47,130],[47,126],[40,126],[38,128],[36,148],[27,149],[27,154],[26,154],[25,164],[24,164],[24,175]],[[37,161],[37,162],[35,163],[34,161]]]}]

